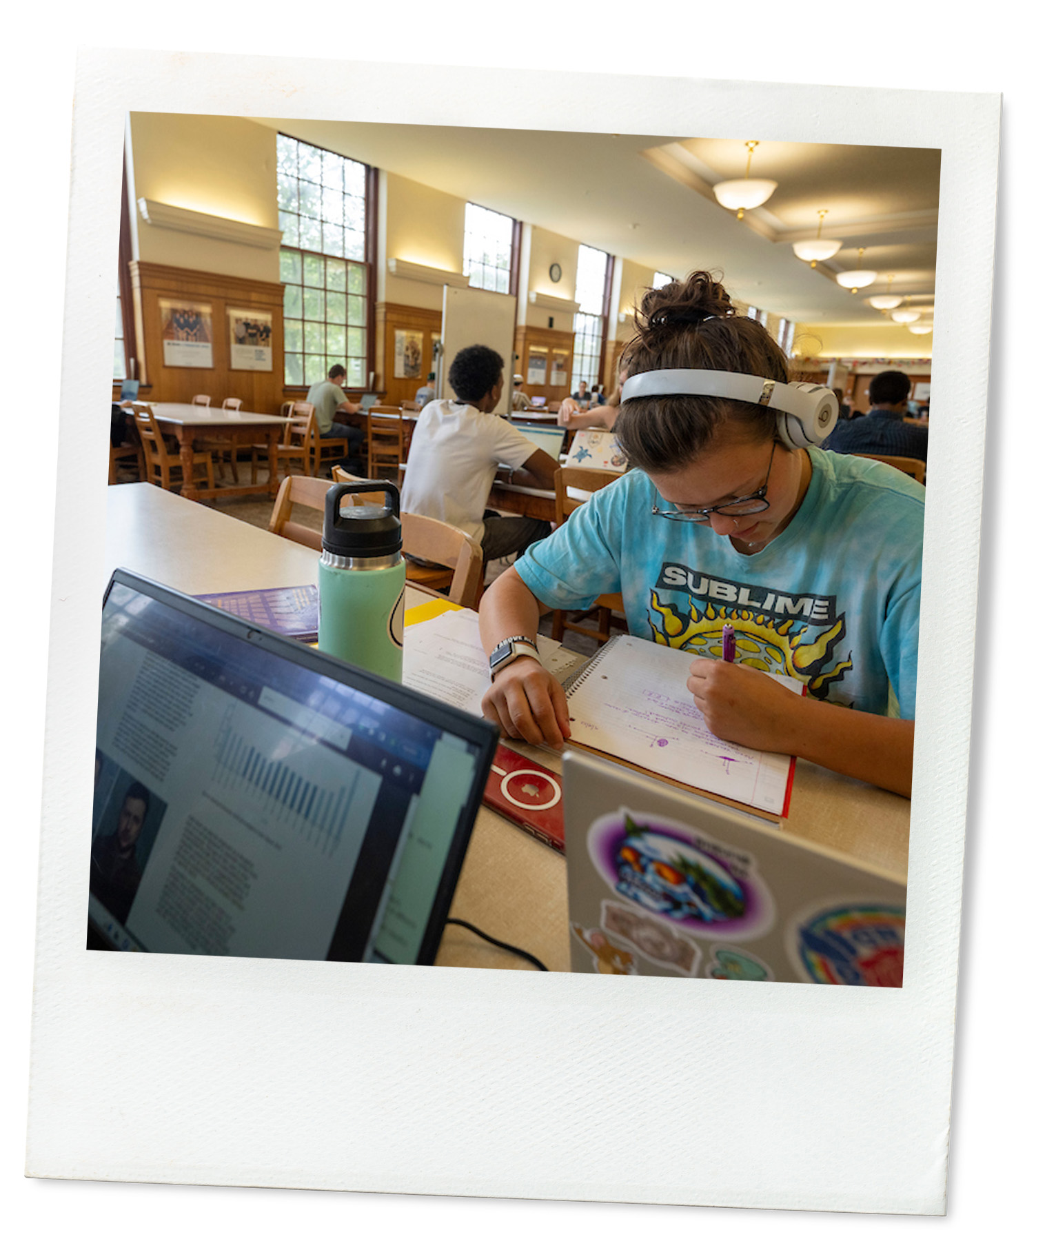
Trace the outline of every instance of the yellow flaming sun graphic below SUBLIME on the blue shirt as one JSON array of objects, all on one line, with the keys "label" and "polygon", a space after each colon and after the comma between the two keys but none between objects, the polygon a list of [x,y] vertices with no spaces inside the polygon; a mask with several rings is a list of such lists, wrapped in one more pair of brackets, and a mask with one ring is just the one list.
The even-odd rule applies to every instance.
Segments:
[{"label": "yellow flaming sun graphic below SUBLIME on the blue shirt", "polygon": [[793,617],[771,617],[748,608],[698,606],[680,612],[674,603],[662,603],[656,590],[650,590],[652,612],[648,617],[653,642],[700,656],[721,657],[723,626],[729,622],[737,641],[737,661],[760,669],[765,674],[787,674],[803,681],[810,695],[827,699],[832,682],[852,669],[852,656],[832,658],[845,638],[845,617],[818,630]]}]

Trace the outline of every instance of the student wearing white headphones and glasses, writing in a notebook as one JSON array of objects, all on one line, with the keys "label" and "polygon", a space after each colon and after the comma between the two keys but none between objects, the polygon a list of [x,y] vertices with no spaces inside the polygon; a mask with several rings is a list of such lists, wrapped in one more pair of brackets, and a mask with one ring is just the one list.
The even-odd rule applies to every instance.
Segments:
[{"label": "student wearing white headphones and glasses, writing in a notebook", "polygon": [[[533,640],[551,607],[619,590],[632,633],[694,653],[687,689],[719,738],[910,794],[923,487],[799,444],[833,419],[830,390],[817,390],[807,433],[769,409],[772,394],[730,400],[730,388],[787,381],[787,359],[706,272],[651,290],[641,307],[614,426],[632,471],[490,587],[485,648]],[[801,414],[812,389],[788,389],[777,407]],[[720,658],[725,622],[734,665]],[[558,748],[565,696],[528,650],[505,653],[483,715],[509,738]]]}]

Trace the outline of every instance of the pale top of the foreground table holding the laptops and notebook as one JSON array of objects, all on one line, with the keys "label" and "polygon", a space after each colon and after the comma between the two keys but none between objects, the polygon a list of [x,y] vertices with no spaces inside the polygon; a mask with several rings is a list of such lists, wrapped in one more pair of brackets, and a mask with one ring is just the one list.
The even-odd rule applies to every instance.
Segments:
[{"label": "pale top of the foreground table holding the laptops and notebook", "polygon": [[[113,568],[128,568],[188,594],[316,580],[316,551],[156,486],[110,486],[107,507],[106,575]],[[408,611],[429,598],[428,592],[408,589]],[[525,753],[550,769],[559,768],[560,758],[548,749],[525,748]],[[791,816],[782,830],[905,875],[909,817],[910,802],[903,797],[798,760]],[[451,917],[528,949],[553,971],[570,968],[565,861],[485,807],[476,820]],[[446,929],[436,962],[530,968],[460,927]]]}]

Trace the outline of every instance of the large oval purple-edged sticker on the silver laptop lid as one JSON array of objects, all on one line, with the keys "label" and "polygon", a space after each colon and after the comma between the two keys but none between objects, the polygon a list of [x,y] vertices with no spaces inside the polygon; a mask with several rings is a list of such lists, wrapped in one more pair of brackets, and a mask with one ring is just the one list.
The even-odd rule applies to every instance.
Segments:
[{"label": "large oval purple-edged sticker on the silver laptop lid", "polygon": [[606,813],[588,831],[588,854],[614,893],[695,935],[753,939],[776,919],[749,852],[671,818]]}]

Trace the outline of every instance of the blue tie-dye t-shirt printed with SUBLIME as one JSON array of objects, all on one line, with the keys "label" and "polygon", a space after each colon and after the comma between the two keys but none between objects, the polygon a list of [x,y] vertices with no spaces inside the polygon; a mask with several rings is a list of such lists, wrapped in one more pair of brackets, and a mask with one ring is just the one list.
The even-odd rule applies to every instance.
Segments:
[{"label": "blue tie-dye t-shirt printed with SUBLIME", "polygon": [[925,491],[895,468],[810,449],[812,480],[787,529],[742,555],[704,525],[652,515],[666,505],[628,472],[516,562],[553,608],[619,590],[631,633],[801,679],[808,694],[914,718]]}]

